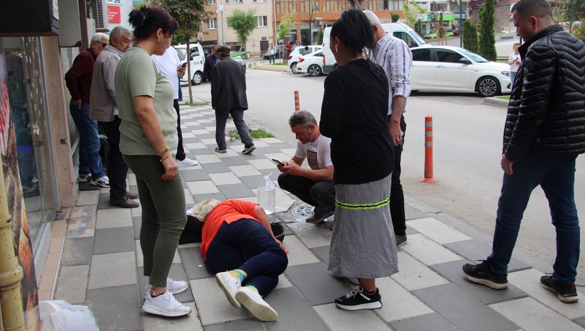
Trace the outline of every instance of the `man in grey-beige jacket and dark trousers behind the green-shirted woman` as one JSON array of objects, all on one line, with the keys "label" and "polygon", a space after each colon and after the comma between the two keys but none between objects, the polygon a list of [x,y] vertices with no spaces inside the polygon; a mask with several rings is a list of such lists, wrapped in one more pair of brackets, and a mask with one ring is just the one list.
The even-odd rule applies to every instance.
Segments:
[{"label": "man in grey-beige jacket and dark trousers behind the green-shirted woman", "polygon": [[91,80],[90,119],[99,121],[108,136],[108,177],[110,180],[110,205],[124,208],[138,207],[138,194],[126,191],[126,176],[128,166],[122,159],[120,152],[120,123],[118,104],[113,84],[116,65],[122,55],[130,48],[132,36],[130,31],[122,26],[112,29],[109,36],[109,45],[95,60],[94,75]]}]

